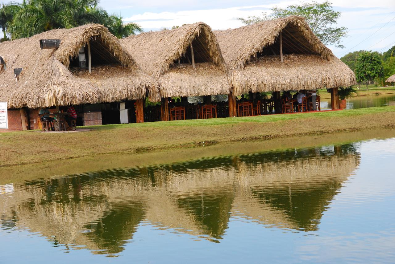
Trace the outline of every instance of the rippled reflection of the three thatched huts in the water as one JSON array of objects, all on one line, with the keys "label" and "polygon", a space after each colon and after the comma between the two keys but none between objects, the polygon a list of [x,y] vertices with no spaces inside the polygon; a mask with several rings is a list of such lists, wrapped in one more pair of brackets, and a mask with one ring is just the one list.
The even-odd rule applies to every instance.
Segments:
[{"label": "rippled reflection of the three thatched huts in the water", "polygon": [[141,221],[216,242],[232,216],[314,231],[358,164],[350,144],[114,169],[14,186],[0,214],[56,244],[110,254]]}]

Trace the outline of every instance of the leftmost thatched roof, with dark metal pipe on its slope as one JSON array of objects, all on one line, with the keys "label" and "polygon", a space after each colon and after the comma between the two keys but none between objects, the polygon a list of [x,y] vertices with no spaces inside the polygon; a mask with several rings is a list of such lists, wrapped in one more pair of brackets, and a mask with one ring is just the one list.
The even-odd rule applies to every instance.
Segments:
[{"label": "leftmost thatched roof, with dark metal pipe on its slope", "polygon": [[[40,49],[40,39],[60,39],[57,49]],[[80,48],[90,44],[92,73],[79,68]],[[99,24],[57,29],[0,44],[0,101],[9,108],[160,100],[157,82],[145,74],[117,37]],[[76,67],[77,66],[77,67]],[[23,68],[18,82],[14,68]]]}]

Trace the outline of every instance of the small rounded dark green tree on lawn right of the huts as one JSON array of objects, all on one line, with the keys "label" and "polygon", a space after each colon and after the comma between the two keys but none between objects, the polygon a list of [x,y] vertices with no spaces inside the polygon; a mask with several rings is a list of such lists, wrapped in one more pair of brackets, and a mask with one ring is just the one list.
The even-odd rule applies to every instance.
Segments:
[{"label": "small rounded dark green tree on lawn right of the huts", "polygon": [[359,54],[355,63],[357,82],[371,82],[382,76],[383,61],[378,52],[365,51]]}]

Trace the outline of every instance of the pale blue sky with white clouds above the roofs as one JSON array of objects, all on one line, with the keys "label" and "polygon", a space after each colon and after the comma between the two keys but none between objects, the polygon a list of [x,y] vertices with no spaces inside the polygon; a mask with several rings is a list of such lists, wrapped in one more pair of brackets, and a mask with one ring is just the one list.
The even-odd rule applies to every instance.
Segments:
[{"label": "pale blue sky with white clouds above the roofs", "polygon": [[[312,1],[303,1],[312,2]],[[317,2],[324,2],[318,0]],[[348,28],[345,48],[329,45],[339,58],[355,50],[383,52],[395,45],[395,0],[332,0],[341,11],[338,26]],[[258,0],[101,0],[109,13],[121,13],[124,22],[136,22],[144,31],[161,30],[205,22],[213,30],[237,28],[237,18],[270,13],[272,7],[287,7],[300,1]]]}]

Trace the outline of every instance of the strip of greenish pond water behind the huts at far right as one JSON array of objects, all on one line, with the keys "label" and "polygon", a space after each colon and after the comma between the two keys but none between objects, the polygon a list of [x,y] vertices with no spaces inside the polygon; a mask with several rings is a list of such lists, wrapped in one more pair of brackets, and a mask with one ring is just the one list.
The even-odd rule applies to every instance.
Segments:
[{"label": "strip of greenish pond water behind the huts at far right", "polygon": [[[347,99],[346,109],[357,109],[377,106],[395,106],[395,94],[367,95]],[[331,99],[321,101],[322,108],[331,108]]]}]

